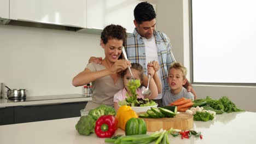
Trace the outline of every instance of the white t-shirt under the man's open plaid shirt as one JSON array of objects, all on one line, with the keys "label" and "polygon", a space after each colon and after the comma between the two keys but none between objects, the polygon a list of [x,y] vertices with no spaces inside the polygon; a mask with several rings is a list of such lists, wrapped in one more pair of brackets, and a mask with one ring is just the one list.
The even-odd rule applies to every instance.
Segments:
[{"label": "white t-shirt under the man's open plaid shirt", "polygon": [[[146,52],[146,63],[148,64],[150,61],[158,61],[158,49],[155,44],[155,37],[150,39],[142,38],[145,44],[145,52]],[[159,63],[159,61],[158,61]],[[160,70],[156,72],[161,80]],[[162,93],[158,94],[158,97],[155,99],[161,99]]]}]

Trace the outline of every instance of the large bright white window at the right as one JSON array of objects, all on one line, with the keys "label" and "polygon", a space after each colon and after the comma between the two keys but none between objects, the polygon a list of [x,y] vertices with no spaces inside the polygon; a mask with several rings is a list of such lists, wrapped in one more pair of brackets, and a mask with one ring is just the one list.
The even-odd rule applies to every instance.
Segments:
[{"label": "large bright white window at the right", "polygon": [[193,83],[256,85],[256,1],[189,2]]}]

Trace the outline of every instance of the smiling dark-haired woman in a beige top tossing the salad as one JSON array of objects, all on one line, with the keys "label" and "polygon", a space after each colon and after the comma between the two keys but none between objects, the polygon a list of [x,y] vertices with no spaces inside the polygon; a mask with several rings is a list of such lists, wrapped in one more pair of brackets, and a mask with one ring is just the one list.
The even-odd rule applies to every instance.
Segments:
[{"label": "smiling dark-haired woman in a beige top tossing the salad", "polygon": [[114,94],[124,87],[119,72],[131,65],[130,61],[121,59],[126,37],[126,29],[119,25],[105,27],[101,33],[101,47],[105,53],[102,63],[89,63],[84,71],[74,77],[72,83],[75,87],[90,82],[94,86],[92,100],[86,105],[86,110],[101,104],[113,106]]}]

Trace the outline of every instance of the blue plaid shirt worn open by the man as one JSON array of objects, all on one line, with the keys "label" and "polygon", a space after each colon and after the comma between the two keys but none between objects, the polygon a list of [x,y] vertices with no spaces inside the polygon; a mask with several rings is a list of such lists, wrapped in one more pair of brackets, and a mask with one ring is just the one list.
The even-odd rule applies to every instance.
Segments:
[{"label": "blue plaid shirt worn open by the man", "polygon": [[[175,61],[175,58],[171,51],[171,42],[165,33],[154,31],[156,48],[158,49],[158,62],[160,65],[160,74],[162,81],[162,97],[165,95],[165,91],[169,88],[168,83],[166,81],[168,76],[168,68],[171,63]],[[139,63],[144,68],[144,73],[147,74],[147,63],[146,63],[146,52],[145,52],[145,44],[144,41],[134,29],[133,33],[131,33],[127,37],[126,42],[126,53],[127,58],[132,63]]]}]

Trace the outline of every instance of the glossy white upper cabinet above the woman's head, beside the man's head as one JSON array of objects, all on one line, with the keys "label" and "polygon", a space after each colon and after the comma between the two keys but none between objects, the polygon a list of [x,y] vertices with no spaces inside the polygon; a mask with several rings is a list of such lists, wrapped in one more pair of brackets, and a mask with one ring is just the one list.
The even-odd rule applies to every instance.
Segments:
[{"label": "glossy white upper cabinet above the woman's head, beside the man's head", "polygon": [[137,0],[87,0],[87,28],[103,29],[107,25],[121,25],[132,33],[133,10]]}]

